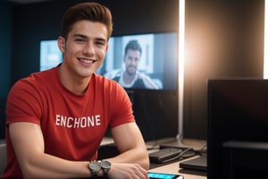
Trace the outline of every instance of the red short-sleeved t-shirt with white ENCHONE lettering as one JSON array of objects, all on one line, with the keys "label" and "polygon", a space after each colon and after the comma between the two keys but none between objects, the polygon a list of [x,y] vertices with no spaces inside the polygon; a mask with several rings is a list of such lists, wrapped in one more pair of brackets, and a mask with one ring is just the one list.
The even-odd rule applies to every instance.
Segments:
[{"label": "red short-sleeved t-shirt with white ENCHONE lettering", "polygon": [[[118,83],[93,74],[86,93],[76,95],[63,87],[58,67],[17,81],[7,98],[6,116],[7,126],[40,125],[47,154],[84,161],[97,158],[107,128],[135,121],[130,98]],[[21,177],[8,130],[6,144],[3,176]]]}]

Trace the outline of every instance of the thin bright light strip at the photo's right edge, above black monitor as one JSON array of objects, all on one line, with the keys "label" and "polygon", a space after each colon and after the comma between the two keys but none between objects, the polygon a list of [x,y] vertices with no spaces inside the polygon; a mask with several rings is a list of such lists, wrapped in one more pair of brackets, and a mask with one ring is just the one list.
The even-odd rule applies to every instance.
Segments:
[{"label": "thin bright light strip at the photo's right edge, above black monitor", "polygon": [[268,79],[268,3],[264,1],[264,79]]}]

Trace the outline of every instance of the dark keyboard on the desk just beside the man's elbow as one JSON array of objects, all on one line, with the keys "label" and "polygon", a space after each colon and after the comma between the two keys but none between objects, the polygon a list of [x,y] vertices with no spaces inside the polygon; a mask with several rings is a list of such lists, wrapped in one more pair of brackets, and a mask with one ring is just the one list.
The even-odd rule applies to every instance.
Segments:
[{"label": "dark keyboard on the desk just beside the man's elbow", "polygon": [[178,148],[163,148],[152,153],[149,153],[150,162],[152,163],[164,163],[172,161],[173,159],[180,158],[180,154],[183,149]]}]

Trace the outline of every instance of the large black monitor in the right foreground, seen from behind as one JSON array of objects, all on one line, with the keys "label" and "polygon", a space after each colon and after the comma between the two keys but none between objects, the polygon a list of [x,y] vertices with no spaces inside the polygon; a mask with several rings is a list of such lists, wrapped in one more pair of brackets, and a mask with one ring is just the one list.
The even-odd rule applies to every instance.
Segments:
[{"label": "large black monitor in the right foreground, seen from behind", "polygon": [[266,173],[268,80],[208,81],[207,178]]}]

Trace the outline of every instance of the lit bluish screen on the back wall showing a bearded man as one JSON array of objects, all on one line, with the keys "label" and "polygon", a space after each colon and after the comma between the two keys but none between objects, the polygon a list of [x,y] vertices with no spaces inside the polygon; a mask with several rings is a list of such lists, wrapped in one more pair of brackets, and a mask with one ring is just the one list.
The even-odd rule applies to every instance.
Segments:
[{"label": "lit bluish screen on the back wall showing a bearded man", "polygon": [[[125,89],[177,90],[176,32],[113,36],[108,46],[105,61],[97,73],[118,81]],[[130,48],[125,52],[127,46]],[[56,39],[41,40],[40,71],[61,62]]]}]

